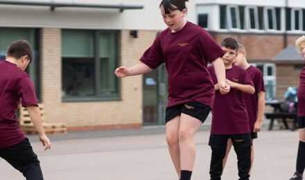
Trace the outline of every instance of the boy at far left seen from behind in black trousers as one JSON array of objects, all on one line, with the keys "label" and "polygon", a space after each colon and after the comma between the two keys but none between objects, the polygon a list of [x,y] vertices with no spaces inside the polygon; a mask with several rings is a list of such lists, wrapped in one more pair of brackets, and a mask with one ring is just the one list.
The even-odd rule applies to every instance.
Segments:
[{"label": "boy at far left seen from behind in black trousers", "polygon": [[0,156],[22,172],[26,179],[42,180],[40,161],[17,124],[15,115],[21,99],[21,105],[28,110],[44,150],[50,150],[51,142],[44,134],[33,82],[24,72],[32,60],[30,44],[19,40],[8,46],[6,61],[0,62]]}]

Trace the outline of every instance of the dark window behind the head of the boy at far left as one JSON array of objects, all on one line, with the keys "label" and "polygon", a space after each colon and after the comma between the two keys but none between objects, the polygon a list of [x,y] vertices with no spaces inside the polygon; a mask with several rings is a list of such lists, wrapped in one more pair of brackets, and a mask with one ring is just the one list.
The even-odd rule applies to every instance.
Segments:
[{"label": "dark window behind the head of the boy at far left", "polygon": [[10,43],[24,39],[27,40],[33,48],[33,61],[26,69],[33,81],[36,95],[39,101],[40,96],[40,61],[39,61],[39,30],[33,28],[0,28],[0,60],[6,59],[6,51]]}]

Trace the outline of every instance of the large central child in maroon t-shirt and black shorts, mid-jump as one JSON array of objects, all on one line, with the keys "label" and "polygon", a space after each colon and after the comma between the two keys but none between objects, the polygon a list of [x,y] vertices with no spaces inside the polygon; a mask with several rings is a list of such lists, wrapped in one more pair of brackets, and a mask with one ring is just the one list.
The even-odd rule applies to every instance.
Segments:
[{"label": "large central child in maroon t-shirt and black shorts, mid-jump", "polygon": [[119,78],[141,75],[166,64],[166,141],[178,177],[189,180],[195,161],[193,138],[214,102],[214,84],[207,62],[214,64],[220,92],[227,93],[229,86],[220,58],[225,52],[207,31],[184,19],[185,1],[163,0],[159,7],[168,28],[157,35],[139,64],[130,68],[121,66],[115,74]]}]

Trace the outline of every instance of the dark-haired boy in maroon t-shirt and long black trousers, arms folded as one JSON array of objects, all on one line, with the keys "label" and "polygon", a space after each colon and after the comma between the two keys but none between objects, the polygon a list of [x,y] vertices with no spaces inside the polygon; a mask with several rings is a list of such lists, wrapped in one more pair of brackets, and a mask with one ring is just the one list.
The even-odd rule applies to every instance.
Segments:
[{"label": "dark-haired boy in maroon t-shirt and long black trousers, arms folded", "polygon": [[223,159],[227,150],[227,141],[230,138],[238,159],[238,176],[240,180],[247,180],[250,177],[252,141],[243,93],[253,94],[255,90],[246,71],[233,65],[238,49],[236,39],[223,39],[221,46],[227,51],[222,59],[226,69],[226,81],[231,89],[225,95],[220,94],[214,66],[209,66],[216,89],[209,138],[212,150],[210,175],[211,180],[221,179]]}]

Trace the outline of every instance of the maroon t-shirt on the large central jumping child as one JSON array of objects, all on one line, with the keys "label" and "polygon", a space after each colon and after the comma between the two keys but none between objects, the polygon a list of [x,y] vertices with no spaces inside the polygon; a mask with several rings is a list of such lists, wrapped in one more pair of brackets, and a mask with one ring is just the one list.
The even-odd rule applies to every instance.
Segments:
[{"label": "maroon t-shirt on the large central jumping child", "polygon": [[224,54],[207,31],[187,22],[176,33],[169,28],[159,33],[140,60],[151,69],[166,63],[168,107],[191,101],[212,107],[215,92],[207,62]]}]

